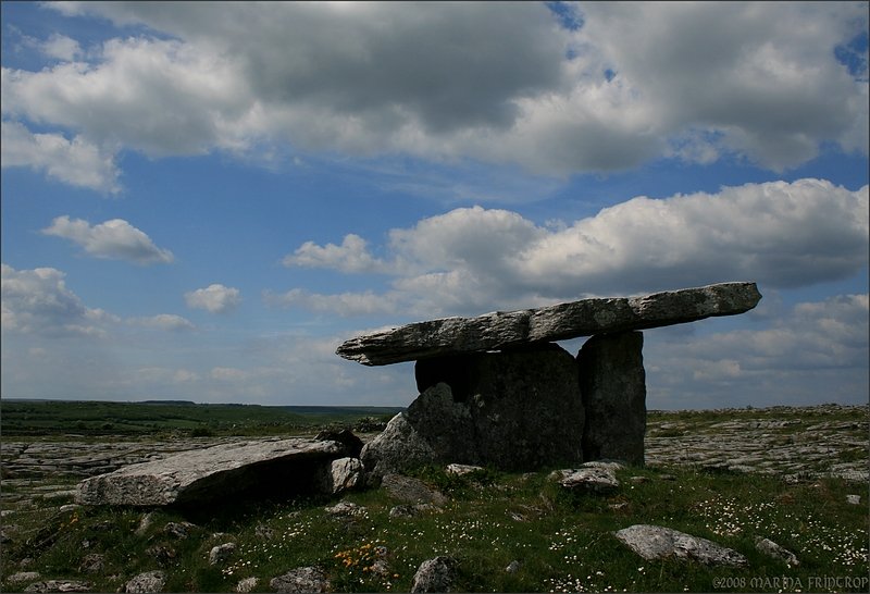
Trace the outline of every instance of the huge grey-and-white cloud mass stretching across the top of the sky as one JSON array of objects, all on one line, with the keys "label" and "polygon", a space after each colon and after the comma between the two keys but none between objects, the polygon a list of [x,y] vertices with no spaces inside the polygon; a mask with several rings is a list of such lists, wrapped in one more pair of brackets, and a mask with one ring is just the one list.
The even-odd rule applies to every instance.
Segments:
[{"label": "huge grey-and-white cloud mass stretching across the top of the sky", "polygon": [[51,7],[171,37],[3,69],[7,116],[88,146],[286,144],[556,176],[725,156],[779,171],[826,143],[867,152],[866,73],[836,51],[867,28],[859,3],[593,2],[568,22],[531,2]]}]

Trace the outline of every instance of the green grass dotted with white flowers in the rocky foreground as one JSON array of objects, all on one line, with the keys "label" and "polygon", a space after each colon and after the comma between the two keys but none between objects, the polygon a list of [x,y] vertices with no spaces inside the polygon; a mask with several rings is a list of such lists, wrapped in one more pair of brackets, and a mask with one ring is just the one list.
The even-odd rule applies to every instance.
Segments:
[{"label": "green grass dotted with white flowers in the rocky foreground", "polygon": [[[674,480],[661,479],[663,472]],[[251,577],[259,580],[254,591],[268,591],[271,578],[313,565],[337,592],[408,592],[423,560],[450,555],[459,560],[458,591],[716,592],[770,591],[774,577],[808,586],[818,577],[866,577],[870,568],[867,508],[845,499],[846,493],[863,496],[867,487],[842,480],[786,484],[760,475],[630,468],[618,472],[621,488],[604,497],[564,492],[546,472],[456,478],[430,467],[418,475],[449,496],[443,510],[390,518],[399,502],[373,490],[346,495],[365,508],[351,517],[330,516],[324,508],[331,502],[323,498],[197,517],[117,507],[20,511],[10,520],[18,528],[4,546],[2,574],[28,557],[44,579],[84,579],[97,591],[115,591],[152,569],[167,572],[171,592],[229,592]],[[137,533],[146,512],[150,527]],[[187,537],[164,531],[184,521],[196,523]],[[745,555],[749,567],[645,561],[612,534],[634,523],[710,539]],[[793,550],[800,565],[756,552],[755,536]],[[211,547],[225,542],[237,545],[231,559],[209,566]],[[88,573],[83,568],[95,553],[104,556],[104,568]],[[519,569],[507,571],[513,561]],[[25,585],[2,583],[3,591]]]}]

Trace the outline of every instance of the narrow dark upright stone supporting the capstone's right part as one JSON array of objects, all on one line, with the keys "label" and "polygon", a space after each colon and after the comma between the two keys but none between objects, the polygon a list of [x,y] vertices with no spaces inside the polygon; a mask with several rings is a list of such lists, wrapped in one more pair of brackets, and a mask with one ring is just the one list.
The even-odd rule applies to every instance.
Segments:
[{"label": "narrow dark upright stone supporting the capstone's right part", "polygon": [[644,463],[646,382],[644,336],[620,332],[593,336],[577,355],[586,413],[583,457]]}]

